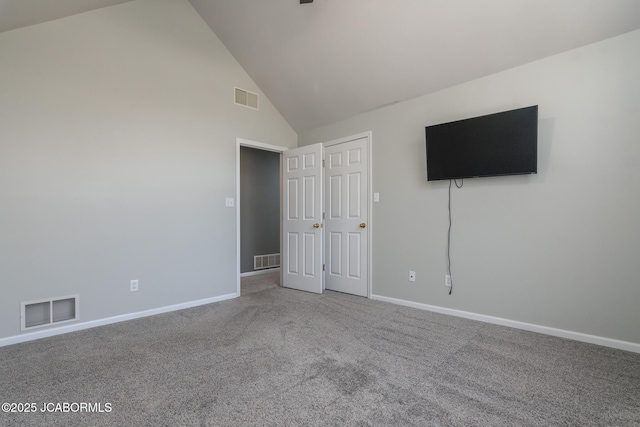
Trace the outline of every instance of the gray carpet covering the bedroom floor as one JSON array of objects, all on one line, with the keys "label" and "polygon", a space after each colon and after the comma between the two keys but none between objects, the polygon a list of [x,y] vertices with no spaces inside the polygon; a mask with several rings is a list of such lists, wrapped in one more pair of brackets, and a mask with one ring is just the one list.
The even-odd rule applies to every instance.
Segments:
[{"label": "gray carpet covering the bedroom floor", "polygon": [[275,283],[0,348],[2,402],[111,406],[0,425],[640,425],[640,354]]}]

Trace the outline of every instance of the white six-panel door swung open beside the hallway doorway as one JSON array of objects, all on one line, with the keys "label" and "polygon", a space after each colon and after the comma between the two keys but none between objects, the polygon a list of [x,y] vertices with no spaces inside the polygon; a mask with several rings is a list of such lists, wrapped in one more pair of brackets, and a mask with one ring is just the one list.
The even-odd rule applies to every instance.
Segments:
[{"label": "white six-panel door swung open beside the hallway doorway", "polygon": [[322,293],[322,144],[283,153],[282,286]]}]

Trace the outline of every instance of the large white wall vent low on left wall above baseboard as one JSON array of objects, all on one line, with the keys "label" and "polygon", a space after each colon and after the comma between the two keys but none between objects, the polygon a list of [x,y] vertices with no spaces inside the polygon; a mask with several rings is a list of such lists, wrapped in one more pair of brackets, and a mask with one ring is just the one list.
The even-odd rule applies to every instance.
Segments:
[{"label": "large white wall vent low on left wall above baseboard", "polygon": [[50,298],[20,303],[20,330],[78,320],[79,296]]}]

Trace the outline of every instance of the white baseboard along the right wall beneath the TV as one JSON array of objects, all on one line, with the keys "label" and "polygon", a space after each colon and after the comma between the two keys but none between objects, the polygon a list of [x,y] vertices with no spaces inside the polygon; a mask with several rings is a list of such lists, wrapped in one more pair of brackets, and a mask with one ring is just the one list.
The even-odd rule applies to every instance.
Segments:
[{"label": "white baseboard along the right wall beneath the TV", "polygon": [[629,341],[620,341],[611,338],[587,335],[580,332],[566,331],[563,329],[550,328],[547,326],[535,325],[532,323],[518,322],[516,320],[503,319],[501,317],[486,316],[484,314],[471,313],[468,311],[454,310],[451,308],[438,307],[435,305],[422,304],[413,301],[406,301],[397,298],[385,297],[382,295],[371,295],[371,299],[390,302],[392,304],[404,305],[406,307],[418,308],[420,310],[432,311],[434,313],[448,314],[450,316],[464,317],[465,319],[479,320],[481,322],[493,323],[495,325],[508,326],[525,331],[537,332],[540,334],[552,335],[554,337],[568,338],[575,341],[582,341],[590,344],[597,344],[604,347],[617,348],[619,350],[640,353],[640,344]]}]

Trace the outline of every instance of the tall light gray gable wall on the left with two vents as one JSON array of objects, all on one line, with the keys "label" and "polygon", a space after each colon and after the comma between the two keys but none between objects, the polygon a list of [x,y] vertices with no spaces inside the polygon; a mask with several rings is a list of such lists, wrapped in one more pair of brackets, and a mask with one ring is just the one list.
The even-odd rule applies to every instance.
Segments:
[{"label": "tall light gray gable wall on the left with two vents", "polygon": [[21,301],[77,293],[88,322],[235,294],[236,137],[297,138],[186,0],[0,34],[0,338]]}]

